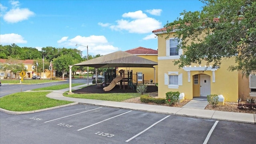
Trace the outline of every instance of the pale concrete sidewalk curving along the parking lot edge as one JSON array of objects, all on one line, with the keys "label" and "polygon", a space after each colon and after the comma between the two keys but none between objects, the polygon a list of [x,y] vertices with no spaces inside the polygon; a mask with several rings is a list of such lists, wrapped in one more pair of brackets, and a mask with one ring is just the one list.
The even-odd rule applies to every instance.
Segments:
[{"label": "pale concrete sidewalk curving along the parking lot edge", "polygon": [[[86,86],[86,84],[72,87],[72,90],[78,89],[82,86]],[[155,113],[170,114],[170,115],[176,115],[176,116],[188,116],[188,117],[195,117],[195,118],[206,118],[206,119],[212,119],[212,120],[224,120],[224,121],[230,121],[230,122],[256,124],[256,114],[198,109],[192,106],[192,105],[195,105],[194,103],[198,103],[198,102],[195,102],[194,100],[187,106],[184,105],[182,108],[179,108],[179,107],[159,106],[159,105],[151,105],[151,104],[135,104],[135,103],[128,103],[128,102],[112,102],[112,101],[104,101],[104,100],[69,98],[69,97],[63,96],[62,94],[68,90],[69,88],[66,88],[63,90],[54,90],[46,96],[49,98],[57,99],[57,100],[72,101],[74,102],[72,104],[83,103],[83,104],[92,104],[96,106],[107,106],[112,108],[139,110],[139,111],[145,111],[145,112],[155,112]],[[68,105],[72,105],[72,104],[68,104]],[[203,105],[205,104],[206,103],[204,102]],[[59,107],[60,106],[55,108],[59,108]],[[53,108],[50,108],[50,109],[53,109]],[[48,110],[48,109],[44,109],[44,110]],[[3,109],[1,109],[1,111],[11,113],[11,114],[24,114],[24,113],[37,112],[37,111],[10,112]],[[38,110],[38,111],[42,111],[42,110]]]}]

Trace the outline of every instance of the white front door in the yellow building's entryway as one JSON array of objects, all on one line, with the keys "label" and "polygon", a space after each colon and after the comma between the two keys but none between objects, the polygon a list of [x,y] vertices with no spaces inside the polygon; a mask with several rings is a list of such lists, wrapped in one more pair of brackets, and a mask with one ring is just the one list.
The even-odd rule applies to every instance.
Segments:
[{"label": "white front door in the yellow building's entryway", "polygon": [[200,96],[211,94],[211,77],[207,74],[200,74]]}]

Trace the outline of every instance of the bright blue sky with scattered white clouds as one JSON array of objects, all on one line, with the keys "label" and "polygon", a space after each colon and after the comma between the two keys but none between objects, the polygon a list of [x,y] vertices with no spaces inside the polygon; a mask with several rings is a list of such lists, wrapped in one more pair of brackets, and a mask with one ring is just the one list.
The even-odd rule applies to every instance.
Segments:
[{"label": "bright blue sky with scattered white clouds", "polygon": [[153,30],[202,6],[199,0],[1,0],[0,44],[76,48],[83,55],[85,46],[90,55],[157,50]]}]

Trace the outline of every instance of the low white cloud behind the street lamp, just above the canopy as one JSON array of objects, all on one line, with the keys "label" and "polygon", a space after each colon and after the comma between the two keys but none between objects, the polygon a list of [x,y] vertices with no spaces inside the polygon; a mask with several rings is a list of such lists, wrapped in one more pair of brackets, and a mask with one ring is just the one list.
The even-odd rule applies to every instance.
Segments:
[{"label": "low white cloud behind the street lamp, just above the canopy", "polygon": [[[95,56],[97,54],[105,55],[105,54],[109,54],[119,50],[119,48],[110,45],[105,36],[94,36],[94,35],[88,36],[88,37],[76,36],[71,39],[67,38],[65,41],[61,42],[60,44],[64,47],[72,47],[72,48],[81,50],[83,52],[83,56],[87,55],[87,46],[88,46],[88,53],[92,56]],[[76,46],[76,44],[79,44],[79,45]]]}]

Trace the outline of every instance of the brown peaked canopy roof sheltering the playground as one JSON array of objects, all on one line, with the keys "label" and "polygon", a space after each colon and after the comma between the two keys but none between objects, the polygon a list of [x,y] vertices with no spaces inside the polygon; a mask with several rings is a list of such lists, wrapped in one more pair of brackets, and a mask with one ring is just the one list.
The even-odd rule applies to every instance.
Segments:
[{"label": "brown peaked canopy roof sheltering the playground", "polygon": [[157,62],[141,58],[128,52],[117,51],[92,60],[80,62],[73,66],[90,66],[93,68],[140,67],[153,68]]}]

